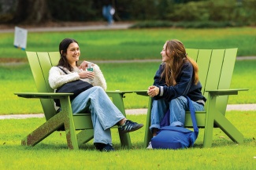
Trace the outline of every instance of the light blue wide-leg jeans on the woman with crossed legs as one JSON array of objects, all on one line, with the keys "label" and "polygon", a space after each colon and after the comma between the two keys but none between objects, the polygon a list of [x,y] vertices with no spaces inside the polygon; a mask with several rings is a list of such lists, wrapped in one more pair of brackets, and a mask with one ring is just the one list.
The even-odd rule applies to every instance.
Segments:
[{"label": "light blue wide-leg jeans on the woman with crossed legs", "polygon": [[90,110],[94,127],[94,143],[112,143],[110,128],[124,118],[106,92],[99,86],[80,93],[72,100],[73,114]]}]

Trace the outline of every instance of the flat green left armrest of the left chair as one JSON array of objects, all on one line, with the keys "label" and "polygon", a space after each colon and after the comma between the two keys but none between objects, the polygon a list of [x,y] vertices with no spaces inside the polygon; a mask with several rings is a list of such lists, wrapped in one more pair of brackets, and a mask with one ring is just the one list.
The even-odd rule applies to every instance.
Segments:
[{"label": "flat green left armrest of the left chair", "polygon": [[14,92],[15,95],[24,98],[39,98],[39,99],[62,99],[73,93],[61,92]]}]

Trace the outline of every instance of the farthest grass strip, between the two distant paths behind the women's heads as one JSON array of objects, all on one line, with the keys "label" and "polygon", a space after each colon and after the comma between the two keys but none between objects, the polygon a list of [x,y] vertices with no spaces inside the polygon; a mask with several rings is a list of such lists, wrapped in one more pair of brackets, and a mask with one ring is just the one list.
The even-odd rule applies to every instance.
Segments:
[{"label": "farthest grass strip, between the two distant paths behind the women's heads", "polygon": [[[177,38],[190,49],[238,48],[237,56],[255,56],[255,28],[131,29],[110,31],[28,32],[27,51],[58,51],[63,38],[80,43],[82,60],[154,59],[166,40]],[[0,60],[26,60],[24,51],[13,48],[13,33],[0,33]]]}]

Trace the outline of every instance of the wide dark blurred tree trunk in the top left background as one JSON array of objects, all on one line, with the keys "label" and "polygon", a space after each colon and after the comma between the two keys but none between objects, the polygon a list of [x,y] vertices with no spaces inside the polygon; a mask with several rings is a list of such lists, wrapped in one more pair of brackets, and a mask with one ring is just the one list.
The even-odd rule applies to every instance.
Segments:
[{"label": "wide dark blurred tree trunk in the top left background", "polygon": [[39,24],[51,20],[47,0],[19,0],[13,23]]}]

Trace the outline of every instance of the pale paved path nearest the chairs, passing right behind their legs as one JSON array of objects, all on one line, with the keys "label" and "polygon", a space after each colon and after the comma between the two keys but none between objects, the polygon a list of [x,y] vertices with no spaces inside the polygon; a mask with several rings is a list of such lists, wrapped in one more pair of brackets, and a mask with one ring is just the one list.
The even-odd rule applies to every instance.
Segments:
[{"label": "pale paved path nearest the chairs, passing right behind their legs", "polygon": [[[256,104],[232,104],[228,105],[227,110],[256,110]],[[147,114],[147,109],[130,109],[125,110],[126,114]],[[44,118],[43,114],[9,114],[9,115],[0,115],[1,119],[20,119],[20,118]]]}]

